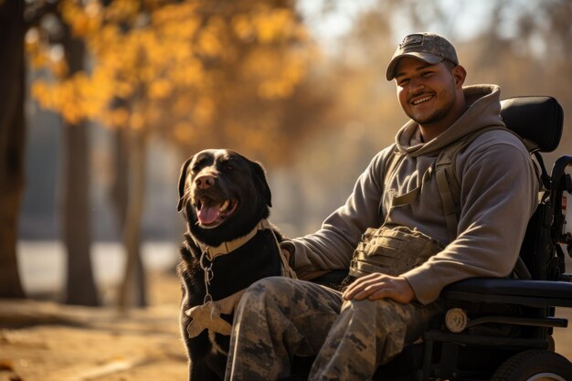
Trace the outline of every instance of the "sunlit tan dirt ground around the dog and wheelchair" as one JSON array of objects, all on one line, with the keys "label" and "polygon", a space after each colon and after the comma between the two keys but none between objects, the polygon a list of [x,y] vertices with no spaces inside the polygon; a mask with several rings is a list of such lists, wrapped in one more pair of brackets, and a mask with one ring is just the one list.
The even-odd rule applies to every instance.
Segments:
[{"label": "sunlit tan dirt ground around the dog and wheelchair", "polygon": [[[179,294],[174,275],[154,273],[151,306],[127,314],[0,300],[0,381],[185,380]],[[572,309],[556,315],[572,322]],[[572,327],[554,337],[556,351],[572,360]]]}]

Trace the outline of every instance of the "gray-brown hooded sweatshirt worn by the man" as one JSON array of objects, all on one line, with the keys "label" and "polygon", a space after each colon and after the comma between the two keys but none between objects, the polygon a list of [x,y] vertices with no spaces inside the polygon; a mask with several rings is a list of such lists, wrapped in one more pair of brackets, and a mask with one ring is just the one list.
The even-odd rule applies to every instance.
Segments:
[{"label": "gray-brown hooded sweatshirt worn by the man", "polygon": [[[454,240],[448,236],[435,176],[429,177],[413,203],[391,207],[393,196],[420,185],[444,146],[467,133],[504,125],[498,86],[468,86],[464,93],[468,109],[450,128],[422,143],[418,124],[406,123],[397,132],[396,143],[377,153],[359,176],[345,205],[327,217],[316,233],[291,240],[294,270],[301,278],[312,271],[347,269],[365,229],[384,221],[418,228],[447,245],[403,274],[419,302],[434,302],[444,286],[457,280],[510,274],[538,194],[534,164],[512,133],[483,132],[459,153],[455,171],[461,184],[461,216]],[[385,178],[396,148],[406,153],[405,158]]]}]

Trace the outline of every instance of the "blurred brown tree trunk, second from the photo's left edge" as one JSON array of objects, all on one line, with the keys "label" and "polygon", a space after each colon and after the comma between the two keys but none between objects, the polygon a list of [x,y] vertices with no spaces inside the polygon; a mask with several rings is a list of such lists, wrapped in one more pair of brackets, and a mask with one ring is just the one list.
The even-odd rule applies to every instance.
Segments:
[{"label": "blurred brown tree trunk, second from the photo's left edge", "polygon": [[[85,46],[72,38],[69,28],[64,37],[70,75],[83,69]],[[99,305],[91,267],[90,218],[90,138],[85,122],[64,125],[65,176],[63,190],[63,236],[68,253],[67,304]]]}]

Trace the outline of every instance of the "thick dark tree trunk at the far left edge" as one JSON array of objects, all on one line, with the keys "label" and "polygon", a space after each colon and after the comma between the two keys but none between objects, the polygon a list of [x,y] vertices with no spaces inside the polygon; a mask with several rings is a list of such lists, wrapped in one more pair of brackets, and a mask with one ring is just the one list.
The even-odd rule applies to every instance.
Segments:
[{"label": "thick dark tree trunk at the far left edge", "polygon": [[18,214],[24,192],[24,0],[0,2],[0,298],[24,298]]}]

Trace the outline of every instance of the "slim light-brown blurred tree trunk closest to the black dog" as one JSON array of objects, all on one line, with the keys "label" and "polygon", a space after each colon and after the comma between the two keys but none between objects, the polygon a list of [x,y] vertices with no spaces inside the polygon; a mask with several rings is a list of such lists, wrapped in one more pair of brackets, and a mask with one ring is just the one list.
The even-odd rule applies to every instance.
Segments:
[{"label": "slim light-brown blurred tree trunk closest to the black dog", "polygon": [[132,139],[129,150],[131,197],[126,199],[127,207],[122,230],[127,259],[118,300],[119,307],[123,311],[130,306],[147,306],[145,271],[141,258],[147,132],[144,129],[131,130],[131,132]]}]

